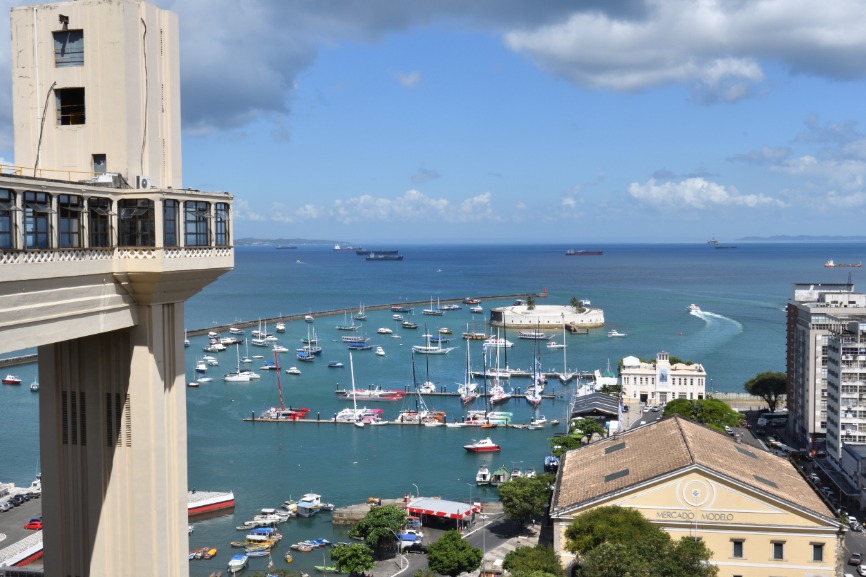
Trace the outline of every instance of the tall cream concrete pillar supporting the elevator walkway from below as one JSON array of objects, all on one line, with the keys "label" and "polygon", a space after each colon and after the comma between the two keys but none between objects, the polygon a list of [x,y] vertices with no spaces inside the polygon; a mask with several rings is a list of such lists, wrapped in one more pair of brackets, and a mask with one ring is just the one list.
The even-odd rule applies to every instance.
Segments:
[{"label": "tall cream concrete pillar supporting the elevator walkway from below", "polygon": [[138,314],[39,348],[46,575],[189,575],[183,304]]}]

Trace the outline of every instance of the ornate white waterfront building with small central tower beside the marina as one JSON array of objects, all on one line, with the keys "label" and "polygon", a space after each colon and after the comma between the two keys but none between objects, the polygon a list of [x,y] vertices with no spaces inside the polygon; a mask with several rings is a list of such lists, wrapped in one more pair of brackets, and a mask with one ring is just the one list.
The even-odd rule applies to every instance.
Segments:
[{"label": "ornate white waterfront building with small central tower beside the marina", "polygon": [[697,363],[672,365],[668,353],[661,351],[654,363],[625,357],[620,381],[626,400],[663,405],[674,399],[703,399],[707,372]]}]

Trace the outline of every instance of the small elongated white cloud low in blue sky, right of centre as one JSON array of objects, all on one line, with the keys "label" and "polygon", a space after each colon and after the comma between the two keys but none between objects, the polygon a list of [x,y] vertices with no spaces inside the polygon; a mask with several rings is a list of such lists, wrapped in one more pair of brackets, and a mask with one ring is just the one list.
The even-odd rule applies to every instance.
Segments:
[{"label": "small elongated white cloud low in blue sky, right of centre", "polygon": [[763,194],[740,194],[734,187],[725,187],[703,178],[688,178],[680,182],[658,184],[654,179],[645,184],[633,182],[628,187],[632,198],[659,208],[688,207],[707,209],[718,207],[758,208],[783,207],[785,203]]}]

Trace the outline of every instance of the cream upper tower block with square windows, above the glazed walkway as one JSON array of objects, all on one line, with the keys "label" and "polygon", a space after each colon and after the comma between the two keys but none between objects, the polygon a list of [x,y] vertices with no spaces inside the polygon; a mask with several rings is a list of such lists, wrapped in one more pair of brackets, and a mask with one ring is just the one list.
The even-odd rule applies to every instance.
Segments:
[{"label": "cream upper tower block with square windows, above the glazed walkway", "polygon": [[176,14],[140,0],[20,6],[11,32],[23,174],[183,185]]}]

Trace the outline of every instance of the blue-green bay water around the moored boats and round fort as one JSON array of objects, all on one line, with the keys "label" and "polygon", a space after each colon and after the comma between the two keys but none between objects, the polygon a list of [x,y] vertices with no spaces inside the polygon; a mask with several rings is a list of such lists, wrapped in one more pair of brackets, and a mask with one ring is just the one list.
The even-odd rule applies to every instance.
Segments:
[{"label": "blue-green bay water around the moored boats and round fort", "polygon": [[[374,247],[376,248],[376,247]],[[565,358],[562,350],[541,347],[545,369],[592,371],[610,364],[615,368],[627,355],[654,358],[659,351],[702,363],[719,391],[741,391],[756,373],[785,370],[784,307],[794,283],[845,282],[849,274],[858,282],[861,269],[828,269],[828,259],[858,262],[862,244],[854,243],[745,243],[736,249],[716,250],[694,245],[612,245],[602,256],[565,256],[564,246],[545,245],[407,245],[400,248],[405,260],[367,262],[353,252],[330,246],[299,246],[297,250],[241,247],[236,250],[235,269],[193,297],[186,306],[189,329],[232,324],[279,315],[318,311],[356,312],[360,306],[407,301],[433,301],[466,296],[523,295],[547,291],[539,304],[567,305],[573,296],[589,299],[605,311],[607,325],[588,335],[568,335]],[[595,248],[595,247],[574,247]],[[512,298],[484,301],[485,315],[470,314],[464,307],[443,317],[413,318],[420,328],[400,329],[388,309],[367,310],[364,334],[386,352],[353,355],[357,387],[406,388],[413,382],[411,345],[422,344],[425,328],[434,332],[448,327],[455,333],[447,346],[450,354],[416,358],[417,380],[431,380],[455,390],[463,378],[465,343],[460,332],[473,323],[483,330],[490,307],[510,304]],[[694,303],[704,311],[687,312]],[[423,308],[423,307],[419,307]],[[286,405],[308,407],[311,416],[333,416],[348,401],[334,391],[351,387],[349,359],[339,342],[335,326],[343,314],[318,317],[308,325],[290,323],[280,342],[294,350],[300,339],[314,329],[324,348],[322,358],[301,363],[292,353],[282,355],[283,367],[297,365],[299,376],[280,375]],[[360,324],[359,321],[356,321]],[[426,323],[426,327],[425,327]],[[378,327],[394,330],[378,335]],[[272,328],[272,327],[271,327]],[[626,338],[611,339],[611,328]],[[249,331],[248,331],[249,332]],[[394,338],[394,337],[401,338]],[[528,368],[535,352],[531,341],[515,342],[507,353],[511,367]],[[561,341],[563,335],[555,334]],[[202,337],[191,338],[187,349],[187,376],[194,378],[194,364],[204,353]],[[471,362],[480,368],[480,343],[472,342]],[[250,347],[250,354],[255,350]],[[266,351],[266,350],[265,350]],[[241,351],[243,354],[244,351]],[[268,355],[266,351],[264,353]],[[200,490],[232,490],[237,506],[231,515],[195,523],[191,546],[220,547],[210,561],[193,561],[191,575],[208,575],[223,568],[229,557],[228,542],[239,537],[234,527],[262,507],[273,507],[289,497],[306,492],[322,495],[339,505],[365,501],[367,497],[399,497],[420,491],[425,496],[467,500],[491,500],[495,490],[474,486],[478,466],[541,469],[553,429],[493,429],[483,435],[473,428],[427,428],[412,426],[366,427],[304,423],[250,423],[244,417],[279,404],[277,375],[257,371],[262,379],[249,384],[227,384],[221,375],[236,364],[233,350],[219,356],[220,366],[209,373],[213,382],[187,389],[188,456],[190,487]],[[343,369],[326,366],[341,360]],[[502,359],[504,364],[505,359]],[[261,362],[253,364],[257,369]],[[16,367],[24,379],[21,387],[0,387],[0,403],[6,418],[0,422],[0,480],[29,483],[38,469],[38,393],[27,384],[35,378],[35,366]],[[514,387],[527,382],[515,379]],[[515,414],[515,422],[528,422],[536,415],[564,419],[568,396],[574,385],[550,383],[559,396],[545,400],[533,411],[522,398],[502,407]],[[392,419],[404,402],[377,403]],[[457,398],[428,398],[431,409],[444,410],[449,420],[458,419],[463,407]],[[372,406],[372,405],[371,405]],[[480,404],[479,404],[480,408]],[[502,445],[496,455],[473,455],[462,446],[487,433]],[[332,533],[328,514],[292,520],[283,526],[288,544],[302,538],[324,536],[344,539],[340,529]],[[293,569],[308,570],[321,562],[320,554],[295,556]],[[277,553],[275,559],[282,559]],[[252,561],[262,569],[265,560]],[[261,566],[259,566],[261,565]]]}]

